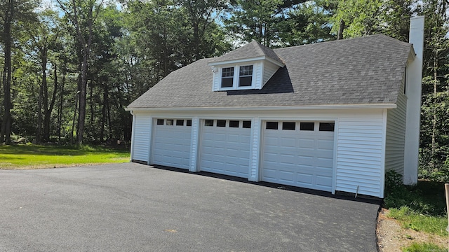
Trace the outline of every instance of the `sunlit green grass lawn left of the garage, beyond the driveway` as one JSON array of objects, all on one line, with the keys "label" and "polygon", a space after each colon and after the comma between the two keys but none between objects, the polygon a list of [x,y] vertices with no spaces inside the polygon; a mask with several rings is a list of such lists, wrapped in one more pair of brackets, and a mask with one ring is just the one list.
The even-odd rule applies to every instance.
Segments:
[{"label": "sunlit green grass lawn left of the garage, beyond the driveway", "polygon": [[41,169],[129,162],[129,150],[90,146],[0,146],[0,169]]}]

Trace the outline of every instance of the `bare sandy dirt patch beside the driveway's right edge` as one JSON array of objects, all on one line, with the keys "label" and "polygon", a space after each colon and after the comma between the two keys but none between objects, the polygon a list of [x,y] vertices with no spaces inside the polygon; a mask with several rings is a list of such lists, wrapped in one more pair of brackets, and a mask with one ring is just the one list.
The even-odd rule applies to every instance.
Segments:
[{"label": "bare sandy dirt patch beside the driveway's right edge", "polygon": [[377,246],[380,252],[402,251],[402,248],[413,242],[431,242],[438,246],[448,247],[448,239],[402,228],[394,218],[388,218],[387,213],[388,209],[382,209],[377,218]]}]

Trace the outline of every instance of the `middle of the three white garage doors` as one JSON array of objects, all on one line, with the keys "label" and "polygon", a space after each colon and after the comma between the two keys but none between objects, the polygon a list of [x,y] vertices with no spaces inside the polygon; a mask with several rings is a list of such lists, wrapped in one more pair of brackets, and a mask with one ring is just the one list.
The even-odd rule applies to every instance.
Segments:
[{"label": "middle of the three white garage doors", "polygon": [[203,120],[200,169],[248,178],[250,120]]}]

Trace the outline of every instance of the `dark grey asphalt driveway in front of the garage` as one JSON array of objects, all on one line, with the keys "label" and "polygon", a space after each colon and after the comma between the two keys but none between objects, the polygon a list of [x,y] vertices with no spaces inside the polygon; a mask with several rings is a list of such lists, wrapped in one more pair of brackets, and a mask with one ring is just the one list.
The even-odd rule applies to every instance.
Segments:
[{"label": "dark grey asphalt driveway in front of the garage", "polygon": [[0,251],[376,251],[379,204],[238,180],[135,163],[0,170]]}]

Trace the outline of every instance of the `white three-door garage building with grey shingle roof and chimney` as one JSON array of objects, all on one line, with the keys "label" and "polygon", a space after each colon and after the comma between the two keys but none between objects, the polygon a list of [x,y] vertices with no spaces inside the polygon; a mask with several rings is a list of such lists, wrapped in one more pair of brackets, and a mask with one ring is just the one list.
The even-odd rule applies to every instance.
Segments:
[{"label": "white three-door garage building with grey shingle roof and chimney", "polygon": [[384,197],[417,181],[422,33],[269,49],[256,41],[177,71],[128,106],[131,159]]}]

